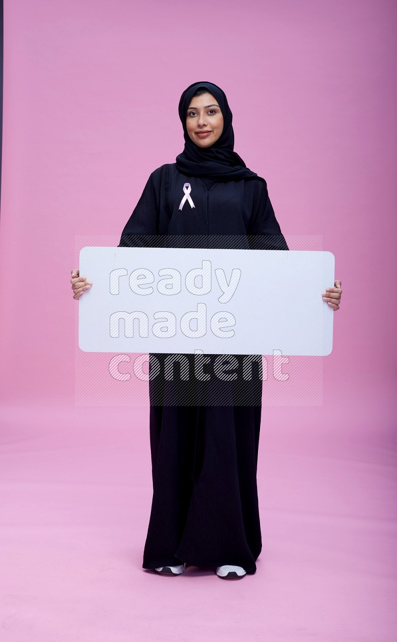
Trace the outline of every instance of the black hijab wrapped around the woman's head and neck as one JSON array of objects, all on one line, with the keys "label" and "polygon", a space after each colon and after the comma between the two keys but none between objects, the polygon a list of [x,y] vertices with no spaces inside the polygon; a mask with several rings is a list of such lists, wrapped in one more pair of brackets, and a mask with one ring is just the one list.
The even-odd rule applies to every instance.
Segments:
[{"label": "black hijab wrapped around the woman's head and neck", "polygon": [[[217,141],[208,148],[199,147],[196,143],[193,143],[186,128],[187,110],[198,87],[208,89],[208,92],[218,101],[223,115],[223,132]],[[233,114],[228,105],[226,94],[220,87],[210,82],[195,82],[189,85],[181,96],[178,111],[183,126],[185,148],[176,157],[176,167],[183,174],[208,177],[216,182],[256,178],[257,180],[263,180],[266,184],[264,178],[248,169],[244,160],[236,152],[233,152]]]}]

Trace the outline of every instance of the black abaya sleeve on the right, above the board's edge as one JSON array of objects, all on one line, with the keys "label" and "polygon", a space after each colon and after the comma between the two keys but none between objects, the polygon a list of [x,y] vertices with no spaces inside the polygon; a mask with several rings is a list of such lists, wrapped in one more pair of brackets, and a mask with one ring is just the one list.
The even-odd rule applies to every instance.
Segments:
[{"label": "black abaya sleeve on the right, above the board's edge", "polygon": [[270,202],[267,186],[255,180],[253,207],[248,226],[251,250],[288,250],[275,211]]}]

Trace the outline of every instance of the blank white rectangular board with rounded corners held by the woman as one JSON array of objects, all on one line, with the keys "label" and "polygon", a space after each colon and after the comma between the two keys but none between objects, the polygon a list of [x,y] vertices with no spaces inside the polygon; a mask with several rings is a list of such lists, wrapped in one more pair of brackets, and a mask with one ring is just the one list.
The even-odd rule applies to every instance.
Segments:
[{"label": "blank white rectangular board with rounded corners held by the woman", "polygon": [[331,252],[85,247],[80,349],[330,354],[334,272]]}]

